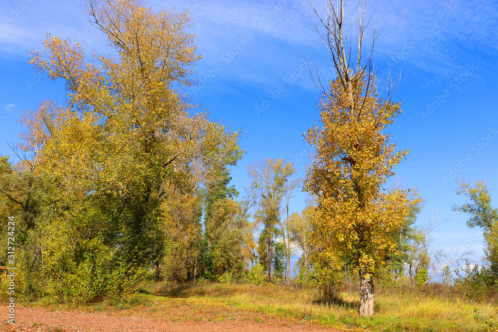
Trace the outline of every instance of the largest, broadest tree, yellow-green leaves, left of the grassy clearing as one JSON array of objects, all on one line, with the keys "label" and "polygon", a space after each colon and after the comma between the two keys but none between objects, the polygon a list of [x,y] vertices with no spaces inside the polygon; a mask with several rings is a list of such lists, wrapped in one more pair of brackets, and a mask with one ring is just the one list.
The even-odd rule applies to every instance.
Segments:
[{"label": "largest, broadest tree, yellow-green leaves, left of the grassy clearing", "polygon": [[58,193],[49,217],[71,231],[54,232],[47,255],[71,267],[56,279],[92,283],[88,300],[172,260],[183,266],[178,278],[195,275],[201,189],[241,151],[239,132],[196,112],[182,92],[200,58],[187,12],[135,0],[89,0],[85,11],[115,56],[48,35],[30,62],[66,84],[67,107],[42,114],[50,137],[40,167]]}]

